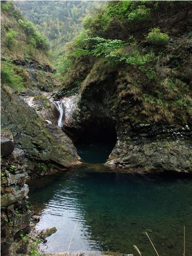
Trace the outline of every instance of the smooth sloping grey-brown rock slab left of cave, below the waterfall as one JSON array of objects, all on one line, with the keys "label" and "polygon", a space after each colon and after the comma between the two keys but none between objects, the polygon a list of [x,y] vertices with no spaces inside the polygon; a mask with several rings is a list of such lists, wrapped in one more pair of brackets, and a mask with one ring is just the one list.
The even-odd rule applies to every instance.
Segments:
[{"label": "smooth sloping grey-brown rock slab left of cave, below the waterfall", "polygon": [[1,125],[10,128],[16,146],[25,151],[31,175],[34,170],[36,174],[44,174],[77,162],[78,155],[72,141],[56,124],[47,124],[21,96],[14,95],[11,101],[13,104],[10,104],[10,99],[3,91]]}]

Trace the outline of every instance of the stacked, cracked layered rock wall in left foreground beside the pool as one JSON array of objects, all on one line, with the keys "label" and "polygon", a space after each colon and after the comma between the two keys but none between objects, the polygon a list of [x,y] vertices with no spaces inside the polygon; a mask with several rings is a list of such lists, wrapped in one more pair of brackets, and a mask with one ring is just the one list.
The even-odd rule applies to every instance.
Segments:
[{"label": "stacked, cracked layered rock wall in left foreground beside the pool", "polygon": [[[10,132],[1,135],[3,139],[8,139],[5,136],[12,137]],[[11,142],[13,145],[13,140]],[[3,150],[1,154],[6,155]],[[1,160],[1,253],[5,256],[15,255],[10,246],[15,243],[16,237],[21,239],[20,234],[30,232],[33,212],[27,201],[29,188],[25,184],[27,172],[24,160],[24,151],[16,148]]]}]

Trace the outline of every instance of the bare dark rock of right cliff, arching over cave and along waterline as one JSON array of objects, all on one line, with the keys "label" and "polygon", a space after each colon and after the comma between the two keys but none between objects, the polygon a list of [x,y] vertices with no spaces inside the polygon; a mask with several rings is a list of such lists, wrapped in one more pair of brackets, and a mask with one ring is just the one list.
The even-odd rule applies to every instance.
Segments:
[{"label": "bare dark rock of right cliff, arching over cave and along waterline", "polygon": [[71,121],[63,126],[71,138],[86,136],[87,131],[94,134],[96,127],[100,130],[108,127],[109,133],[115,128],[117,142],[108,165],[144,172],[192,171],[190,124],[143,123],[140,117],[132,118],[136,108],[132,99],[126,108],[114,106],[117,92],[109,91],[109,86],[117,83],[114,74],[108,72],[103,80],[102,75],[91,79],[87,77],[83,81],[77,107],[70,113]]}]

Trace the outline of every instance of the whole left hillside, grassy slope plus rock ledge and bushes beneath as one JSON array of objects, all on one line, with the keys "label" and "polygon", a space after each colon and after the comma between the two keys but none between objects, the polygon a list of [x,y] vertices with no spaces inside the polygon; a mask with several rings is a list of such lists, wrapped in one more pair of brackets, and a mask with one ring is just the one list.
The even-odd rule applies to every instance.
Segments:
[{"label": "whole left hillside, grassy slope plus rock ledge and bushes beneath", "polygon": [[14,2],[1,1],[0,5],[1,84],[18,90],[30,87],[52,91],[59,82],[47,54],[47,38],[26,20]]}]

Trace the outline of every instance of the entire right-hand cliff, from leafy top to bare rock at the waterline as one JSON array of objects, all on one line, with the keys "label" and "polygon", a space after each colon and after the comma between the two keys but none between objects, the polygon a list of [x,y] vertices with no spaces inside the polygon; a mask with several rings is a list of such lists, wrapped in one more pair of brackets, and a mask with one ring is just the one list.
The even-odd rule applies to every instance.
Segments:
[{"label": "entire right-hand cliff, from leafy top to bare rock at the waterline", "polygon": [[75,141],[115,129],[109,165],[192,171],[190,7],[111,1],[87,17],[80,43],[73,42],[73,65],[55,94],[78,94],[64,130]]}]

